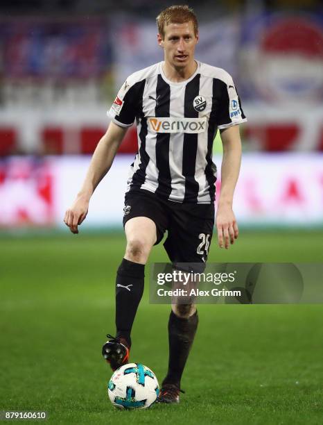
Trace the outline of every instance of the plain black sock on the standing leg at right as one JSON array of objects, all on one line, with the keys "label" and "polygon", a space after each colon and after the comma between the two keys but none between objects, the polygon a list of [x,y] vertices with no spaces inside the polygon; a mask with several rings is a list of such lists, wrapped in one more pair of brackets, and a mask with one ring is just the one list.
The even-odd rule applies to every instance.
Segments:
[{"label": "plain black sock on the standing leg at right", "polygon": [[198,328],[198,312],[188,319],[178,317],[171,312],[168,321],[169,360],[168,373],[164,383],[175,383],[180,387],[184,366],[191,350],[196,329]]}]

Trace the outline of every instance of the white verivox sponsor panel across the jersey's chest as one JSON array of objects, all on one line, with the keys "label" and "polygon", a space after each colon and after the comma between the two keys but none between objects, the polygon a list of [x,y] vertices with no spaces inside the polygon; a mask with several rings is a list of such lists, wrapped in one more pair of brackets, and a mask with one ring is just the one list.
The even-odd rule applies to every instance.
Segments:
[{"label": "white verivox sponsor panel across the jersey's chest", "polygon": [[150,131],[154,133],[204,133],[207,117],[204,118],[148,118]]}]

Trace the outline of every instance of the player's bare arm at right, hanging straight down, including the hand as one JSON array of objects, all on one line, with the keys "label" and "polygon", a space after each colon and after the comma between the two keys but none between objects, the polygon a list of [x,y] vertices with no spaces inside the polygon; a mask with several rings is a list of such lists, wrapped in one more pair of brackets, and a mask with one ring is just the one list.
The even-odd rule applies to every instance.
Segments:
[{"label": "player's bare arm at right, hanging straight down, including the hand", "polygon": [[218,229],[218,244],[229,248],[229,242],[238,238],[238,224],[232,210],[234,189],[241,165],[241,138],[239,126],[229,126],[220,131],[223,157],[221,166],[221,191],[216,213],[216,228]]}]

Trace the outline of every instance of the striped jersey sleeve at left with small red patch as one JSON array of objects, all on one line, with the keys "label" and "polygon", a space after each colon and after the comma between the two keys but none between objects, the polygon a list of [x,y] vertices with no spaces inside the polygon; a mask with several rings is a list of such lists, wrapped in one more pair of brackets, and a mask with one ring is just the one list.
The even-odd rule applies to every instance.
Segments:
[{"label": "striped jersey sleeve at left with small red patch", "polygon": [[125,81],[116,95],[116,99],[114,99],[112,106],[107,111],[107,115],[115,124],[121,127],[132,126],[137,114],[135,99],[136,85],[130,86],[130,84]]}]

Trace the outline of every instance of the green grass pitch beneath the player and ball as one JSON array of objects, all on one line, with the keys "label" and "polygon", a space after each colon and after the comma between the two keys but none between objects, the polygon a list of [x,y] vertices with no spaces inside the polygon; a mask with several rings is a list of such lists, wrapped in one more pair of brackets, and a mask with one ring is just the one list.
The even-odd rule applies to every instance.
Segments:
[{"label": "green grass pitch beneath the player and ball", "polygon": [[[322,424],[323,306],[200,306],[178,406],[118,411],[101,358],[114,333],[121,234],[0,240],[0,410],[46,410],[53,424]],[[321,262],[322,231],[241,231],[210,261]],[[155,247],[150,262],[166,261]],[[147,273],[148,276],[148,273]],[[169,306],[148,303],[132,361],[164,378]],[[30,422],[29,422],[30,423]]]}]

